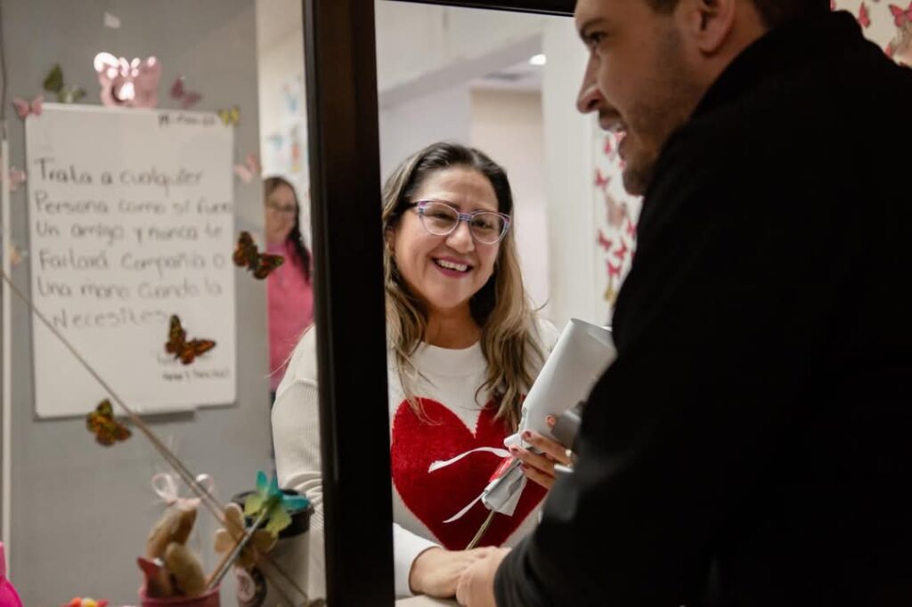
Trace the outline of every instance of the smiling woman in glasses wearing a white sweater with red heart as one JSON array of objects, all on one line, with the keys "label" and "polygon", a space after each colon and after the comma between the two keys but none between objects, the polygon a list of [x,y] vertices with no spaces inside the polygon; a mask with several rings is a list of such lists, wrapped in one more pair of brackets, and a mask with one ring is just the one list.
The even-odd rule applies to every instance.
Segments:
[{"label": "smiling woman in glasses wearing a white sweater with red heart", "polygon": [[[457,144],[420,150],[383,190],[399,596],[453,596],[461,571],[491,550],[466,550],[489,515],[472,501],[503,463],[503,438],[515,432],[523,396],[557,338],[523,288],[512,216],[503,169]],[[308,332],[279,386],[273,435],[280,483],[316,505],[308,585],[312,596],[323,596],[317,422],[315,336]],[[493,516],[479,546],[510,546],[531,531],[555,462],[567,463],[553,441],[535,433],[525,439],[543,453],[511,455],[534,482],[513,516]]]}]

